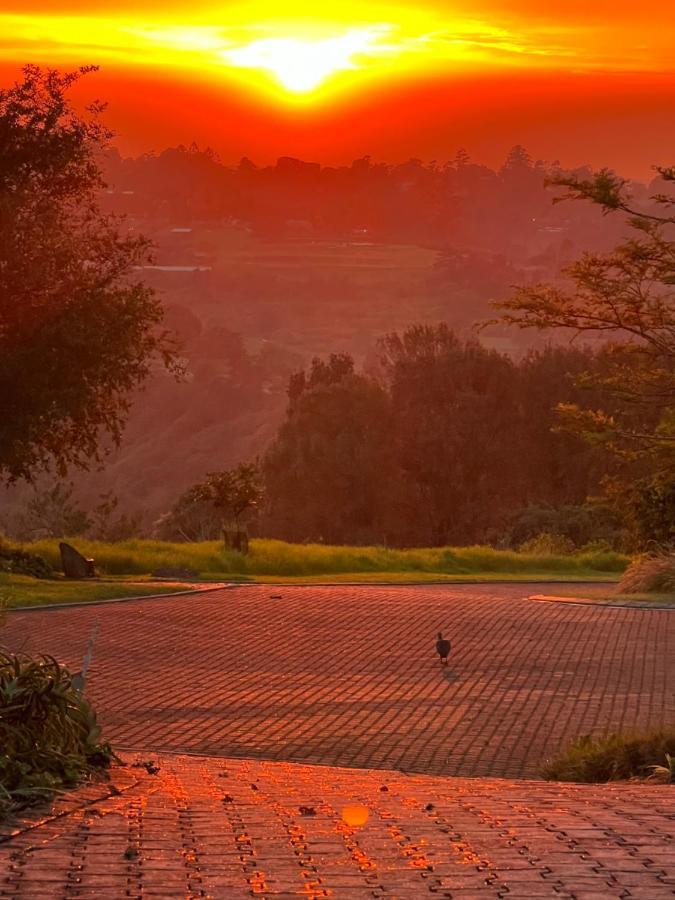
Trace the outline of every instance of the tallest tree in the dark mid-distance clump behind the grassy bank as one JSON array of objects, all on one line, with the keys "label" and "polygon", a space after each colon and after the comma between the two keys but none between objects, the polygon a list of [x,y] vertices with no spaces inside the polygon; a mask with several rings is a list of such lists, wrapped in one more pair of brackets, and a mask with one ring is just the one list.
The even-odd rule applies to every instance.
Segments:
[{"label": "tallest tree in the dark mid-distance clump behind the grassy bank", "polygon": [[446,325],[415,325],[380,348],[418,542],[477,539],[516,487],[513,363]]}]

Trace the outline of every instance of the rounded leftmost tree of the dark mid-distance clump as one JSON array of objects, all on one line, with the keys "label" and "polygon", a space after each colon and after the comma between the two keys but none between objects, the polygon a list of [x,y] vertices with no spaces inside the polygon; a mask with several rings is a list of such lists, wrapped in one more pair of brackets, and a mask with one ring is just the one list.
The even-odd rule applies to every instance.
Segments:
[{"label": "rounded leftmost tree of the dark mid-distance clump", "polygon": [[286,421],[263,472],[261,528],[290,540],[372,541],[394,493],[392,421],[382,386],[332,354],[294,375]]}]

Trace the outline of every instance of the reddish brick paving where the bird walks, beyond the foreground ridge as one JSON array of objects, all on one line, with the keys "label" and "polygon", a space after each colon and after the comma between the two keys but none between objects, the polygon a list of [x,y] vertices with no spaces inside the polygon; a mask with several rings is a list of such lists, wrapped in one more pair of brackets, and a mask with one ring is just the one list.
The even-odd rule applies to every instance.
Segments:
[{"label": "reddish brick paving where the bird walks, beyond the foreground ridge", "polygon": [[518,778],[580,733],[675,721],[675,611],[540,590],[244,586],[13,613],[2,641],[79,667],[98,620],[88,692],[131,748]]}]

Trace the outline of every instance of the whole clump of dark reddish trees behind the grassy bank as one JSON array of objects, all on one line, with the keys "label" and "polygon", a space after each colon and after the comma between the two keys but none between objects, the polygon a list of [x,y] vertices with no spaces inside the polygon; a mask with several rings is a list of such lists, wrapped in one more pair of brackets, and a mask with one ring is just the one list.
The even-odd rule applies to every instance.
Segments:
[{"label": "whole clump of dark reddish trees behind the grassy bank", "polygon": [[[264,458],[260,532],[394,546],[518,543],[530,536],[527,510],[578,510],[611,474],[607,455],[556,430],[554,412],[561,401],[593,406],[575,379],[602,365],[602,351],[569,347],[515,362],[444,325],[382,340],[372,374],[347,355],[316,359],[291,379],[286,420]],[[584,516],[576,543],[615,537],[611,516]],[[532,533],[549,530],[539,519]]]}]

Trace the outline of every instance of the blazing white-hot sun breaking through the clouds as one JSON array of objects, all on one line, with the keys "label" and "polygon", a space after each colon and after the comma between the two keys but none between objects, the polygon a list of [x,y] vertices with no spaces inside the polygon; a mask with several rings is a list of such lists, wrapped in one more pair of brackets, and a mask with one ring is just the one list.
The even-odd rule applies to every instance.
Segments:
[{"label": "blazing white-hot sun breaking through the clouds", "polygon": [[263,38],[224,50],[222,58],[231,66],[269,73],[290,93],[309,94],[338,72],[361,68],[359,57],[385,50],[380,41],[386,31],[379,26],[320,39]]}]

